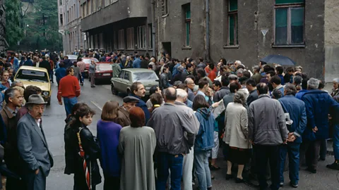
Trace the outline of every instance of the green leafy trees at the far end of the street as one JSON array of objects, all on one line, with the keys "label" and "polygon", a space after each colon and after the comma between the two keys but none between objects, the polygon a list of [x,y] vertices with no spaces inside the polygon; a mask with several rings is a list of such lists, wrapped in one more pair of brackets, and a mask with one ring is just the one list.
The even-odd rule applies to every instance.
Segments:
[{"label": "green leafy trees at the far end of the street", "polygon": [[62,49],[62,38],[59,34],[57,1],[35,0],[33,10],[25,15],[23,23],[26,37],[22,41],[25,50],[59,51]]}]

